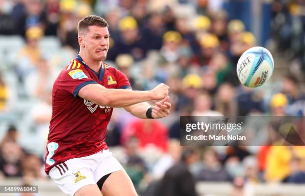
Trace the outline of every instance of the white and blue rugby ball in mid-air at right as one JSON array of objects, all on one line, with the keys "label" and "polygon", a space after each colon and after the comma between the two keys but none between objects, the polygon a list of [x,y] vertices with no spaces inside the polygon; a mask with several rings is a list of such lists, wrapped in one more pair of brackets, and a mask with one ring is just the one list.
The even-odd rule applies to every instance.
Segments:
[{"label": "white and blue rugby ball in mid-air at right", "polygon": [[274,68],[269,50],[263,47],[248,49],[239,58],[236,71],[239,81],[246,87],[259,87],[267,82]]}]

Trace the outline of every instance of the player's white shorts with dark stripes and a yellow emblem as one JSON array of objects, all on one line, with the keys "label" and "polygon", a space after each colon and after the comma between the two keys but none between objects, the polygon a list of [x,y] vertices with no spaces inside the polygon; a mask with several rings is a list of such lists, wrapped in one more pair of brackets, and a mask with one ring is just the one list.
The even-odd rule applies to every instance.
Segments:
[{"label": "player's white shorts with dark stripes and a yellow emblem", "polygon": [[80,188],[96,184],[103,176],[124,170],[109,150],[102,150],[87,157],[69,159],[54,166],[49,176],[61,191],[73,196]]}]

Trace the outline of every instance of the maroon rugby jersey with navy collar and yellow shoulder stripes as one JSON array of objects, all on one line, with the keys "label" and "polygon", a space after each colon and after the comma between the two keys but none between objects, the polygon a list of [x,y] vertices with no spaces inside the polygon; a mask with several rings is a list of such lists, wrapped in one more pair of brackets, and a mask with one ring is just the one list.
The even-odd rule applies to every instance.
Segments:
[{"label": "maroon rugby jersey with navy collar and yellow shoulder stripes", "polygon": [[79,55],[55,80],[45,156],[47,174],[66,160],[108,149],[105,136],[113,108],[77,96],[82,87],[96,83],[108,89],[131,89],[127,77],[119,70],[104,63],[97,73]]}]

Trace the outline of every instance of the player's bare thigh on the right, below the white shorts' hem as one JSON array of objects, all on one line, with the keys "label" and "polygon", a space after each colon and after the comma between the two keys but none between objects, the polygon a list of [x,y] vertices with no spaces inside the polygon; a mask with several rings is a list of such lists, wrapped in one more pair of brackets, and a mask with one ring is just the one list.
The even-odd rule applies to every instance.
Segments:
[{"label": "player's bare thigh on the right, below the white shorts' hem", "polygon": [[102,194],[103,196],[138,196],[125,170],[111,173],[103,184]]}]

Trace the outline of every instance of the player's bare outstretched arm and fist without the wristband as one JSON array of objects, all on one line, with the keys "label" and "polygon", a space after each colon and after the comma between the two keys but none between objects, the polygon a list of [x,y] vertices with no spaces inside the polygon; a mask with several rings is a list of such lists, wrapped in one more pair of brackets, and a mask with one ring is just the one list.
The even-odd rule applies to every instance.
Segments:
[{"label": "player's bare outstretched arm and fist without the wristband", "polygon": [[126,107],[148,100],[163,99],[168,95],[168,89],[164,84],[159,84],[151,91],[107,89],[99,84],[89,84],[79,90],[78,96],[98,105]]}]

